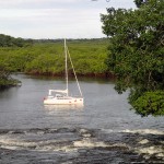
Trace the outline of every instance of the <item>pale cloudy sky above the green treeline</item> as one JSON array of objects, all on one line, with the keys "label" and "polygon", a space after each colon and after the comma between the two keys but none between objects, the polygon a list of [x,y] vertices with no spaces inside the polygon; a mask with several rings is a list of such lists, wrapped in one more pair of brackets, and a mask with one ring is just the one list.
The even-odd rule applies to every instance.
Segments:
[{"label": "pale cloudy sky above the green treeline", "polygon": [[[109,2],[107,2],[109,1]],[[0,34],[22,38],[99,38],[106,8],[133,0],[0,0]]]}]

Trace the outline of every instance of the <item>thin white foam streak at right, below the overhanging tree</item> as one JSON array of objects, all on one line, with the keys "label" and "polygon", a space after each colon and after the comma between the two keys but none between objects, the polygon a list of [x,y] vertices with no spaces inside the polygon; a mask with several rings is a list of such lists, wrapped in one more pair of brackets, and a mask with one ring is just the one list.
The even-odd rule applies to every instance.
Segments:
[{"label": "thin white foam streak at right, below the overhanging tree", "polygon": [[155,130],[155,129],[138,129],[138,130],[122,130],[120,132],[127,132],[127,133],[141,133],[141,134],[164,134],[164,131]]}]

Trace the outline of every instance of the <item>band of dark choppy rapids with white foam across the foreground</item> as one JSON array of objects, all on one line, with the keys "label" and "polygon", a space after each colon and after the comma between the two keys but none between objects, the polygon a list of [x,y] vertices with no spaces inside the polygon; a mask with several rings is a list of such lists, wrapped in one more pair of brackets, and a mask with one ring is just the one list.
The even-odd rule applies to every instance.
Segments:
[{"label": "band of dark choppy rapids with white foam across the foreground", "polygon": [[69,153],[75,156],[83,151],[87,152],[87,150],[107,150],[119,153],[134,152],[144,159],[155,156],[157,160],[164,160],[163,133],[163,131],[152,129],[127,129],[117,132],[85,128],[1,130],[0,148]]}]

